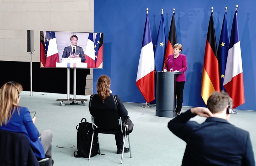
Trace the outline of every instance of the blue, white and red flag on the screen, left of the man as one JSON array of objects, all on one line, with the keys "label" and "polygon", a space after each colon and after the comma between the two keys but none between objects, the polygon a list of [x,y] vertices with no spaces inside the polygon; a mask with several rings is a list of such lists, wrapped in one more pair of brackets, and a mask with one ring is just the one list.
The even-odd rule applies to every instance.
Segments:
[{"label": "blue, white and red flag on the screen, left of the man", "polygon": [[56,62],[60,62],[55,32],[47,31],[45,34],[45,67],[55,68]]}]

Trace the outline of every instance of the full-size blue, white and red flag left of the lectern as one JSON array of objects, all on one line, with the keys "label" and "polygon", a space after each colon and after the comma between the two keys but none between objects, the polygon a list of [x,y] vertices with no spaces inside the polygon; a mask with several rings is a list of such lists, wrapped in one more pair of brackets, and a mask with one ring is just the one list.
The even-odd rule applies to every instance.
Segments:
[{"label": "full-size blue, white and red flag left of the lectern", "polygon": [[136,85],[141,94],[149,103],[155,99],[154,97],[154,50],[151,38],[150,23],[148,13],[146,17],[144,35],[142,40],[142,48],[140,52],[140,60],[136,78]]}]

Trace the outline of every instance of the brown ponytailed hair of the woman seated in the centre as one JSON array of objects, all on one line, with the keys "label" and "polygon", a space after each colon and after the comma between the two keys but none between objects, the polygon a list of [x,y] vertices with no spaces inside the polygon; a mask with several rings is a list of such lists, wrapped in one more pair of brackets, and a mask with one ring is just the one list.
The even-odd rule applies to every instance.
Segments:
[{"label": "brown ponytailed hair of the woman seated in the centre", "polygon": [[106,100],[110,96],[110,78],[109,76],[102,75],[98,78],[97,82],[97,92],[100,98],[102,98],[102,102]]}]

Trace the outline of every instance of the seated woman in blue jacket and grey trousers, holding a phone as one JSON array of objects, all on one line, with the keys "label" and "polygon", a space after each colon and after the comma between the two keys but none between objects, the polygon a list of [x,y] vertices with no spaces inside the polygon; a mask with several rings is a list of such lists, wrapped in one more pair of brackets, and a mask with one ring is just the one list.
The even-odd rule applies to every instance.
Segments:
[{"label": "seated woman in blue jacket and grey trousers, holding a phone", "polygon": [[51,159],[52,132],[45,130],[38,132],[35,121],[36,117],[31,117],[29,109],[19,106],[20,92],[22,85],[13,81],[7,82],[0,91],[0,130],[7,130],[25,134],[38,159],[49,158],[48,166],[53,164]]}]

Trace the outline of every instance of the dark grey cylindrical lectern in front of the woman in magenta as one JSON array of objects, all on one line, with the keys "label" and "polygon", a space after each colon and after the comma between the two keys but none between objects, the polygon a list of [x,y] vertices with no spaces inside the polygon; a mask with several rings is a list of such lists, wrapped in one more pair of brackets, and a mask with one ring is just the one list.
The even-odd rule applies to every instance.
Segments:
[{"label": "dark grey cylindrical lectern in front of the woman in magenta", "polygon": [[156,71],[156,116],[175,117],[175,81],[182,72]]}]

